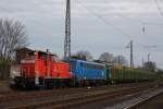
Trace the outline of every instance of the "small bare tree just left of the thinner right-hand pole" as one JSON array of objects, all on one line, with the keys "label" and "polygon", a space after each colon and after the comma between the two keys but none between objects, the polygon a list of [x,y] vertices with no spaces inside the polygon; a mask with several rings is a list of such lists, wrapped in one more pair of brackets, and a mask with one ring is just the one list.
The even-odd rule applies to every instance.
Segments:
[{"label": "small bare tree just left of the thinner right-hand pole", "polygon": [[116,56],[114,57],[114,63],[118,63],[118,64],[122,64],[122,65],[127,65],[127,60],[124,56]]}]

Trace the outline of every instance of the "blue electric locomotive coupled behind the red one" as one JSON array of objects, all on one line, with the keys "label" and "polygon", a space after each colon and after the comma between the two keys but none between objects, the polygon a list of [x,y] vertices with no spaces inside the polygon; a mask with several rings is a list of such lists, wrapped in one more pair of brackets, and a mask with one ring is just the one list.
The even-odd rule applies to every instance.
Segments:
[{"label": "blue electric locomotive coupled behind the red one", "polygon": [[70,59],[71,72],[76,85],[100,85],[106,82],[105,65],[77,59]]}]

